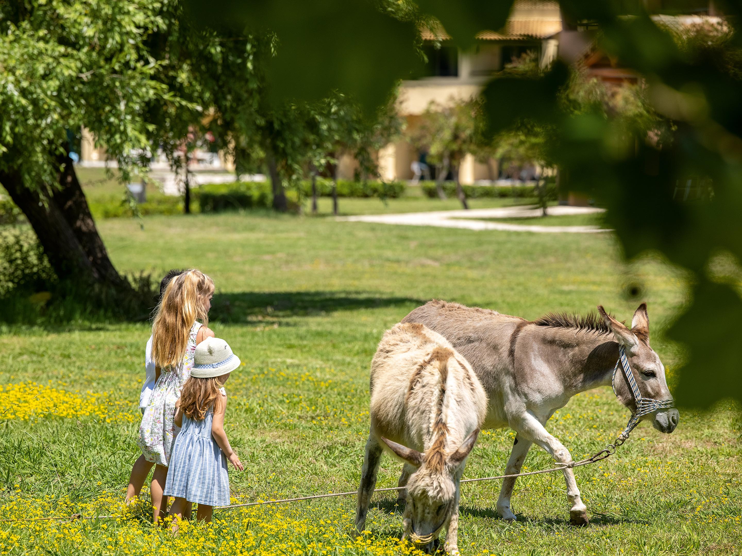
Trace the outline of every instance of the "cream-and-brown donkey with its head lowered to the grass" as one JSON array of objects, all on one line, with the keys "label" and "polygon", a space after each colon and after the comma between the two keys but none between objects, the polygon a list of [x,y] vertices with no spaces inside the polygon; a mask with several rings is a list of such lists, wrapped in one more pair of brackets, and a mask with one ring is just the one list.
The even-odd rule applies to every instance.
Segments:
[{"label": "cream-and-brown donkey with its head lowered to the grass", "polygon": [[386,448],[404,461],[409,480],[404,537],[430,552],[447,526],[445,548],[458,554],[459,480],[486,409],[479,379],[444,337],[418,324],[388,330],[371,363],[371,430],[356,530],[364,530]]}]

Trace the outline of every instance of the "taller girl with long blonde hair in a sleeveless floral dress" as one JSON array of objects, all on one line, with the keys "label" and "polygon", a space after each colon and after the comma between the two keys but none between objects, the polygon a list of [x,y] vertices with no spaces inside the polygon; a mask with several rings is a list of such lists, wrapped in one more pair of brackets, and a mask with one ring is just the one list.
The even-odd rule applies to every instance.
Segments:
[{"label": "taller girl with long blonde hair in a sleeveless floral dress", "polygon": [[209,309],[214,282],[191,269],[175,277],[165,289],[152,325],[155,384],[139,426],[139,448],[155,464],[150,494],[155,522],[167,511],[163,497],[168,460],[175,434],[176,403],[191,374],[196,346],[208,337]]}]

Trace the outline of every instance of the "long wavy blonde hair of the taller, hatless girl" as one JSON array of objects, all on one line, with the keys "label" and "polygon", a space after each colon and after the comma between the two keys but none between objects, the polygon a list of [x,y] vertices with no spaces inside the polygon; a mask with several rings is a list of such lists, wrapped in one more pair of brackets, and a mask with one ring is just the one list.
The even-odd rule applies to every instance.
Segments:
[{"label": "long wavy blonde hair of the taller, hatless girl", "polygon": [[188,347],[188,334],[197,320],[209,325],[206,302],[214,293],[211,278],[191,268],[171,279],[152,323],[152,358],[160,368],[179,365]]}]

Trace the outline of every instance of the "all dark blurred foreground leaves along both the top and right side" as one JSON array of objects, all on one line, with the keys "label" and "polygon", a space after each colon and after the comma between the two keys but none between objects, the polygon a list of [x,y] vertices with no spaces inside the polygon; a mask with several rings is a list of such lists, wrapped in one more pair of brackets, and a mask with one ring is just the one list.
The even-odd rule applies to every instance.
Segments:
[{"label": "all dark blurred foreground leaves along both the top and right side", "polygon": [[[467,48],[478,31],[502,28],[513,4],[188,1],[211,22],[275,31],[269,76],[279,97],[312,99],[338,89],[364,105],[380,103],[395,80],[416,74],[416,26],[437,20],[450,44]],[[626,257],[656,250],[695,274],[693,299],[669,331],[689,349],[678,401],[708,407],[723,397],[742,400],[734,357],[742,300],[735,283],[710,282],[706,275],[720,249],[742,260],[742,50],[732,27],[740,6],[720,3],[729,16],[722,24],[678,30],[652,19],[640,1],[560,4],[560,51],[572,59],[536,76],[493,79],[482,93],[487,131],[548,130],[548,155],[562,187],[608,208]],[[638,76],[642,102],[634,117],[622,117],[601,99],[575,102],[569,94],[580,67],[574,53],[586,47]]]}]

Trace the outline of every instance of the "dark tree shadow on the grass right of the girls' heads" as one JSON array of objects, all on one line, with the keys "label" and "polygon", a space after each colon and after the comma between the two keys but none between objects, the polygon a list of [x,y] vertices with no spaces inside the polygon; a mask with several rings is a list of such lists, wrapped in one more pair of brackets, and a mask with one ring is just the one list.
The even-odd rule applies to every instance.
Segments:
[{"label": "dark tree shadow on the grass right of the girls' heads", "polygon": [[215,294],[212,322],[255,322],[264,317],[309,317],[334,311],[422,305],[413,297],[381,296],[357,291],[266,291]]}]

